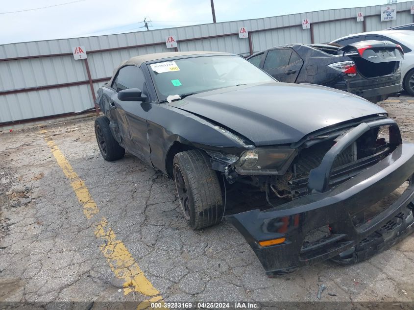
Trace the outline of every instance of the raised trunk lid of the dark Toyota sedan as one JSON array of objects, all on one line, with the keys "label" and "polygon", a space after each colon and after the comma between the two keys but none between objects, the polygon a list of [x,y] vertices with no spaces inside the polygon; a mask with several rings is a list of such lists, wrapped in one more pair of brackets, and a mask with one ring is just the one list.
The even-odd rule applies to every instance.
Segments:
[{"label": "raised trunk lid of the dark Toyota sedan", "polygon": [[360,41],[338,49],[338,53],[342,56],[360,56],[374,63],[404,60],[402,47],[391,41]]}]

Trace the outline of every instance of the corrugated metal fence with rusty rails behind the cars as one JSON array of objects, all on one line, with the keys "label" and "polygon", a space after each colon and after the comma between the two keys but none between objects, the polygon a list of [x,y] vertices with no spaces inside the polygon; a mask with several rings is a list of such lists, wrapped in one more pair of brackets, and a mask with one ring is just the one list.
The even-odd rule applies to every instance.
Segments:
[{"label": "corrugated metal fence with rusty rails behind the cars", "polygon": [[[397,3],[397,20],[381,22],[381,6],[324,10],[255,20],[202,24],[97,37],[16,43],[0,46],[0,126],[51,116],[71,115],[94,107],[98,87],[123,60],[175,50],[226,51],[250,55],[289,43],[323,43],[350,33],[381,30],[413,22],[414,1]],[[357,22],[358,12],[365,15]],[[308,18],[310,29],[302,29]],[[248,39],[239,39],[246,27]],[[72,47],[84,46],[88,58],[74,60]]]}]

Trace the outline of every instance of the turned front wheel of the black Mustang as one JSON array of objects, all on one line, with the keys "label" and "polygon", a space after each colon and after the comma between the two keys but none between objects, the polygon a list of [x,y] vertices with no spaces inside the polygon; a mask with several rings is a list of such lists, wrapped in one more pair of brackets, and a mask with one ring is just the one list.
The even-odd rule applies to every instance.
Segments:
[{"label": "turned front wheel of the black Mustang", "polygon": [[180,208],[189,225],[202,229],[218,224],[224,212],[223,198],[207,154],[200,150],[176,154],[172,173]]}]

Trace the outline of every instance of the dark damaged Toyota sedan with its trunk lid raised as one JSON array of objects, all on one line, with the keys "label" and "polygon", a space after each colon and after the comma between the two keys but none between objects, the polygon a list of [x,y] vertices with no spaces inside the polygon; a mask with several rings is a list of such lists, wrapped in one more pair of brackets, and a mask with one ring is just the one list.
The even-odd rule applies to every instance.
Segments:
[{"label": "dark damaged Toyota sedan with its trunk lid raised", "polygon": [[402,47],[390,41],[289,44],[247,57],[279,82],[311,83],[359,95],[373,103],[402,90]]}]

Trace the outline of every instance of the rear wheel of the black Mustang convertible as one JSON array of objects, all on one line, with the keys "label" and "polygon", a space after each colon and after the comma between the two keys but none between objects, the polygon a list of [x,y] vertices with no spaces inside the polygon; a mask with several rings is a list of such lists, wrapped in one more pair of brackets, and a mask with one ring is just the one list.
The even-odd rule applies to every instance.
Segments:
[{"label": "rear wheel of the black Mustang convertible", "polygon": [[112,162],[121,159],[125,155],[125,149],[112,136],[107,117],[100,116],[95,119],[95,136],[97,137],[100,154],[104,160]]}]

